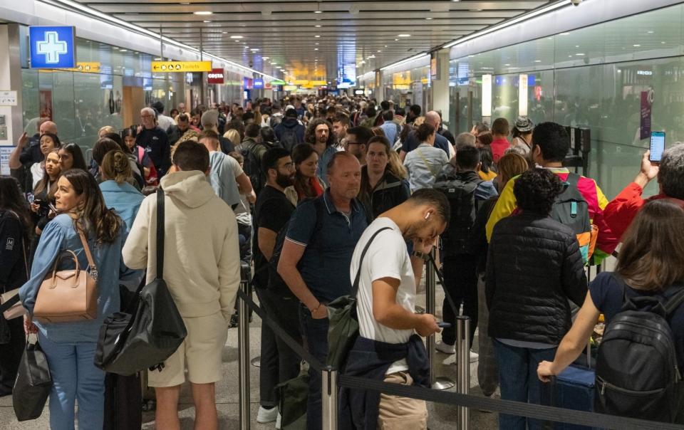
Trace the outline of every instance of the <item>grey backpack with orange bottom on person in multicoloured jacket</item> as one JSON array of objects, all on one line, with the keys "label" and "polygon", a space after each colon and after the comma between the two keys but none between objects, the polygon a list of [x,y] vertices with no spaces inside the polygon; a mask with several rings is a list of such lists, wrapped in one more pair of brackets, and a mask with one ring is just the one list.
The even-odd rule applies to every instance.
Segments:
[{"label": "grey backpack with orange bottom on person in multicoloured jacket", "polygon": [[569,226],[577,235],[579,251],[582,254],[582,261],[586,265],[594,254],[598,227],[591,224],[589,204],[577,189],[577,182],[579,182],[579,174],[568,174],[568,179],[565,182],[566,188],[556,197],[554,206],[551,208],[551,218]]}]

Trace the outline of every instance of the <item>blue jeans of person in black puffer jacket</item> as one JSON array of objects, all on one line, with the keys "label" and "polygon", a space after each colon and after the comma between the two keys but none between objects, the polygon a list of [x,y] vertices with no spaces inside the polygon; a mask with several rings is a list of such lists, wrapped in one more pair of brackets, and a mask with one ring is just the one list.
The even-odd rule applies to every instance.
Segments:
[{"label": "blue jeans of person in black puffer jacket", "polygon": [[[494,339],[499,361],[499,387],[502,400],[541,404],[541,382],[537,367],[541,361],[553,361],[556,348],[535,350],[512,347]],[[525,416],[499,414],[499,430],[537,430],[543,421]]]}]

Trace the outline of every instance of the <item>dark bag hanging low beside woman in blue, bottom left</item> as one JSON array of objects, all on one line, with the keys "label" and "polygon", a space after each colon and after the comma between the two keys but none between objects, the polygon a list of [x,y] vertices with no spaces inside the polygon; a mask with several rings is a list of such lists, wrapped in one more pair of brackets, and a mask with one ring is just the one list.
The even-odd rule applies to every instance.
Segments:
[{"label": "dark bag hanging low beside woman in blue, bottom left", "polygon": [[45,352],[38,345],[38,340],[36,343],[27,340],[12,390],[16,419],[26,421],[41,416],[51,389],[52,377]]}]

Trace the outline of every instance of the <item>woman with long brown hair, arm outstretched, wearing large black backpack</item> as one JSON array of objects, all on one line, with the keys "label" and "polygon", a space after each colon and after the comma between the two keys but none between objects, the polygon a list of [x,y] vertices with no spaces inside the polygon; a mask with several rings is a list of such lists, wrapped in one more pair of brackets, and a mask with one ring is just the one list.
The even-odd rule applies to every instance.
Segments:
[{"label": "woman with long brown hair, arm outstretched, wearing large black backpack", "polygon": [[[601,313],[606,325],[610,325],[626,299],[650,296],[665,303],[684,288],[682,237],[684,211],[678,204],[659,199],[643,206],[623,235],[615,271],[601,272],[589,284],[584,305],[561,340],[554,360],[539,363],[537,375],[541,381],[549,381],[579,357]],[[684,369],[684,305],[670,315],[668,322],[675,341],[678,367]],[[679,402],[680,413],[675,422],[684,424],[684,396],[680,395]]]}]

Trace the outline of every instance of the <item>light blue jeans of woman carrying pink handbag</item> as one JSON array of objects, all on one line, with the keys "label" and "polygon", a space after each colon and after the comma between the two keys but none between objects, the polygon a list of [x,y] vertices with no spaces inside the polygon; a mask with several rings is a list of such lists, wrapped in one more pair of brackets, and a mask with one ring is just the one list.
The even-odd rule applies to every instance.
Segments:
[{"label": "light blue jeans of woman carrying pink handbag", "polygon": [[102,429],[105,372],[93,365],[95,342],[55,343],[38,335],[52,374],[50,429],[73,430],[78,399],[78,428]]}]

